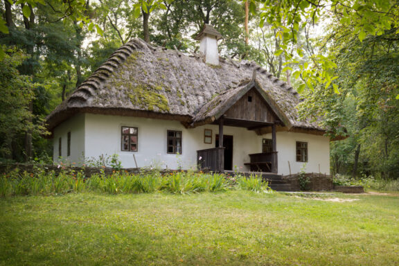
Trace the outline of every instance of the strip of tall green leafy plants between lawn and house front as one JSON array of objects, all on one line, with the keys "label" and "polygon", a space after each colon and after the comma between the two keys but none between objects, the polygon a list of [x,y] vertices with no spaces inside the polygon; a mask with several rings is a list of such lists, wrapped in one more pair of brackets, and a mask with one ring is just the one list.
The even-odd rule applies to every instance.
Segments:
[{"label": "strip of tall green leafy plants between lawn and house front", "polygon": [[0,196],[12,195],[65,195],[93,191],[106,194],[139,194],[165,192],[192,194],[220,192],[231,189],[271,192],[267,182],[258,176],[227,179],[221,174],[199,172],[169,172],[157,170],[130,174],[114,170],[112,175],[105,172],[85,178],[82,172],[62,170],[59,174],[37,168],[35,172],[12,171],[0,176]]}]

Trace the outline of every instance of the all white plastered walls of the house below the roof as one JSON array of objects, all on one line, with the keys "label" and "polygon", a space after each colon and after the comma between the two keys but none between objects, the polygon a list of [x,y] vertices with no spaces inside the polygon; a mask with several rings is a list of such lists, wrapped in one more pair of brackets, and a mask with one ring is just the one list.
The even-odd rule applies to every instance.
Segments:
[{"label": "all white plastered walls of the house below the roof", "polygon": [[[137,152],[121,150],[121,127],[138,127]],[[212,143],[204,143],[204,129],[212,130]],[[168,130],[182,132],[181,154],[168,154],[166,133]],[[67,157],[67,132],[71,132],[71,156]],[[58,156],[58,139],[62,137],[62,157],[81,164],[83,154],[86,159],[98,159],[101,154],[118,154],[124,168],[134,168],[133,154],[139,167],[158,167],[177,169],[197,169],[197,150],[215,147],[218,125],[204,125],[186,129],[178,121],[130,116],[106,116],[99,114],[80,114],[65,121],[54,130],[54,161]],[[254,131],[242,127],[224,127],[224,135],[233,136],[233,167],[248,171],[244,163],[249,162],[249,154],[262,151],[262,139],[271,139],[271,134],[258,136]],[[303,163],[296,162],[296,141],[308,143],[308,163],[306,172],[330,173],[330,142],[326,136],[312,134],[277,132],[278,173],[301,170]]]}]

